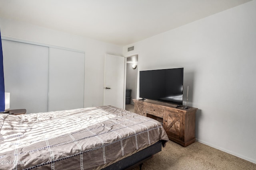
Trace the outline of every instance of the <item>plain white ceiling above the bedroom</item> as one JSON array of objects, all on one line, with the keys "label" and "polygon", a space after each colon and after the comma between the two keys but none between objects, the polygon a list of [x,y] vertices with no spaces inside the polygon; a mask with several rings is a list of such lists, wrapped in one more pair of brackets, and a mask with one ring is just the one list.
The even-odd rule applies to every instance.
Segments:
[{"label": "plain white ceiling above the bedroom", "polygon": [[124,46],[249,1],[0,0],[0,18]]}]

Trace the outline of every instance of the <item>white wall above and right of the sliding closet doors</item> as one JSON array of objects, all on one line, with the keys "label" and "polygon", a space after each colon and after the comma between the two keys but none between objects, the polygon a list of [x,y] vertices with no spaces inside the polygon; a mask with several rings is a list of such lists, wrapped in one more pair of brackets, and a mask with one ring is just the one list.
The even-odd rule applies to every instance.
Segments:
[{"label": "white wall above and right of the sliding closet doors", "polygon": [[122,55],[122,47],[3,18],[0,29],[5,37],[85,51],[84,106],[103,105],[104,56]]}]

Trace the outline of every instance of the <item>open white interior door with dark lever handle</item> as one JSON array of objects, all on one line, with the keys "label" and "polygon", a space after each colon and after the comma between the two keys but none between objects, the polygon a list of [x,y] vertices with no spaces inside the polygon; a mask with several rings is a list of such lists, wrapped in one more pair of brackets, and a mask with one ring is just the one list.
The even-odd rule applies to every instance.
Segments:
[{"label": "open white interior door with dark lever handle", "polygon": [[124,108],[125,57],[105,55],[104,106]]}]

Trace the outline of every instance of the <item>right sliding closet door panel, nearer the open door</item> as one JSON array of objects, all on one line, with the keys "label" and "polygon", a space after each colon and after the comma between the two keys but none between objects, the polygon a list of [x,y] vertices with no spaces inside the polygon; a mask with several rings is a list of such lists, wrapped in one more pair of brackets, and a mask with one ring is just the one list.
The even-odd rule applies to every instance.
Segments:
[{"label": "right sliding closet door panel, nearer the open door", "polygon": [[50,48],[49,111],[84,107],[84,53]]}]

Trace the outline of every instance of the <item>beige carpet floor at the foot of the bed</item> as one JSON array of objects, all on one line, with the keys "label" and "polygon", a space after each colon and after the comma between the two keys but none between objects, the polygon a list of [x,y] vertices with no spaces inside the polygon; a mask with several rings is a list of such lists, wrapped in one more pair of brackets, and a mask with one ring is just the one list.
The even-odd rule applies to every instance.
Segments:
[{"label": "beige carpet floor at the foot of the bed", "polygon": [[143,163],[142,170],[256,170],[256,164],[199,142],[182,147],[168,141],[161,152]]}]

